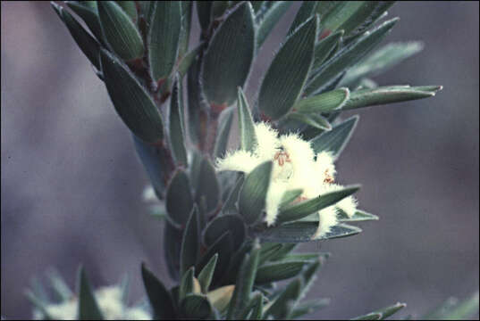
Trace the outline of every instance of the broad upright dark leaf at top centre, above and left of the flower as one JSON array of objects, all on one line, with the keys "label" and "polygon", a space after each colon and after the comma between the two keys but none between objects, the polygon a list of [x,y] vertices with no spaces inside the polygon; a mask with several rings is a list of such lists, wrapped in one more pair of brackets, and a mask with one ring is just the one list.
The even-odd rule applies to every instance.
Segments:
[{"label": "broad upright dark leaf at top centre, above and left of the flower", "polygon": [[[240,4],[215,30],[203,58],[201,77],[206,100],[222,110],[237,97],[255,52],[253,11],[248,1]],[[240,28],[241,26],[241,28]]]}]

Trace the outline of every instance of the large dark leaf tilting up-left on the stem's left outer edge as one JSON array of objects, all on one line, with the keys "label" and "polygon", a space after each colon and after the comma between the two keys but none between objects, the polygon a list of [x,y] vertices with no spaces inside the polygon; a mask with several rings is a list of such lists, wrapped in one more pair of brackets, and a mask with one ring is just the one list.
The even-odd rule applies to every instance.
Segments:
[{"label": "large dark leaf tilting up-left on the stem's left outer edge", "polygon": [[115,111],[140,139],[147,143],[160,142],[164,137],[164,123],[150,95],[112,54],[102,49],[100,57],[106,90]]}]

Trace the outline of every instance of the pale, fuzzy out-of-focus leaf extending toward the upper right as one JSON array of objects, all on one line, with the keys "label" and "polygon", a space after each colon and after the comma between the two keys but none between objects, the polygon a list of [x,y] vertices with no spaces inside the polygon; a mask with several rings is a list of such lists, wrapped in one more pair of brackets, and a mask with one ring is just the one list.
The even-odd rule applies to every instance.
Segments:
[{"label": "pale, fuzzy out-of-focus leaf extending toward the upper right", "polygon": [[366,76],[376,76],[420,52],[424,45],[420,41],[391,43],[370,54],[362,62],[350,68],[341,79],[340,86],[349,86]]}]

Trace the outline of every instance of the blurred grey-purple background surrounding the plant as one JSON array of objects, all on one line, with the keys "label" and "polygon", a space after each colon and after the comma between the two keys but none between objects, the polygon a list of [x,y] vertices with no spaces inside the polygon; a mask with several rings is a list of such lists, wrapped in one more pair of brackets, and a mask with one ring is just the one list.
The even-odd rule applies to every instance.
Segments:
[{"label": "blurred grey-purple background surrounding the plant", "polygon": [[[133,301],[144,293],[140,261],[172,284],[163,223],[141,200],[147,177],[105,86],[50,4],[1,5],[1,315],[31,317],[24,291],[33,276],[46,283],[51,267],[72,286],[80,263],[96,286],[126,273]],[[298,7],[259,53],[249,97]],[[399,316],[421,316],[478,289],[478,2],[399,3],[389,16],[400,22],[383,44],[423,40],[425,49],[375,80],[444,89],[355,112],[339,181],[361,183],[359,207],[380,220],[359,224],[360,235],[300,247],[333,253],[307,297],[332,303],[311,318],[397,301],[408,303]]]}]

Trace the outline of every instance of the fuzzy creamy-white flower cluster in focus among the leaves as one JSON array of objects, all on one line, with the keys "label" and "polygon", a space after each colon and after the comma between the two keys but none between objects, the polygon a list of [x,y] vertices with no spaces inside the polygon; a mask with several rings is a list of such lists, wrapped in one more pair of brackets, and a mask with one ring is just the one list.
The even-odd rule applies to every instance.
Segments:
[{"label": "fuzzy creamy-white flower cluster in focus among the leaves", "polygon": [[[228,152],[216,161],[217,170],[236,170],[246,174],[265,161],[274,161],[270,186],[265,200],[265,222],[274,224],[278,215],[282,195],[292,189],[303,192],[295,202],[308,200],[322,193],[341,188],[334,185],[336,174],[333,155],[330,152],[315,153],[310,142],[304,141],[298,134],[278,136],[270,125],[255,124],[257,144],[252,152],[239,150]],[[337,209],[343,210],[349,217],[355,213],[357,202],[352,196],[320,210],[319,226],[312,238],[328,233],[338,223]]]}]

